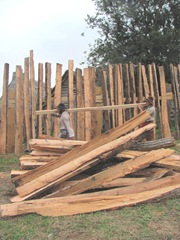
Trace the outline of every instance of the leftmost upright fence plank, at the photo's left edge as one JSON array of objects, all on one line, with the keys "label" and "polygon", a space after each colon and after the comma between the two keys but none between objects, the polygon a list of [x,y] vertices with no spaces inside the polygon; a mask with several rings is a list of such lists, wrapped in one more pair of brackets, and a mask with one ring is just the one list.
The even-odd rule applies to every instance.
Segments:
[{"label": "leftmost upright fence plank, at the photo's left edge", "polygon": [[7,131],[8,131],[8,82],[9,82],[9,64],[4,64],[3,91],[1,98],[1,121],[0,121],[0,153],[7,152]]}]

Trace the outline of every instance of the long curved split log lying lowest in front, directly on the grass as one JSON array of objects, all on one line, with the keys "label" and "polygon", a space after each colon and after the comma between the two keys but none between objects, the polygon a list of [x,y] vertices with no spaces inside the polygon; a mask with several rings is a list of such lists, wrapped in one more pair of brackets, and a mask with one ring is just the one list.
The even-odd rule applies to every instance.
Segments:
[{"label": "long curved split log lying lowest in front, directly on the grass", "polygon": [[[162,180],[162,179],[161,179]],[[158,181],[158,180],[157,180]],[[152,184],[152,183],[151,183]],[[78,195],[64,198],[50,198],[11,203],[0,206],[2,217],[18,216],[28,213],[38,213],[43,216],[67,216],[80,213],[88,213],[100,210],[115,209],[125,206],[137,205],[139,203],[160,199],[167,194],[172,194],[180,189],[180,181],[176,180],[164,187],[153,190],[135,192],[120,196],[95,196]]]}]

